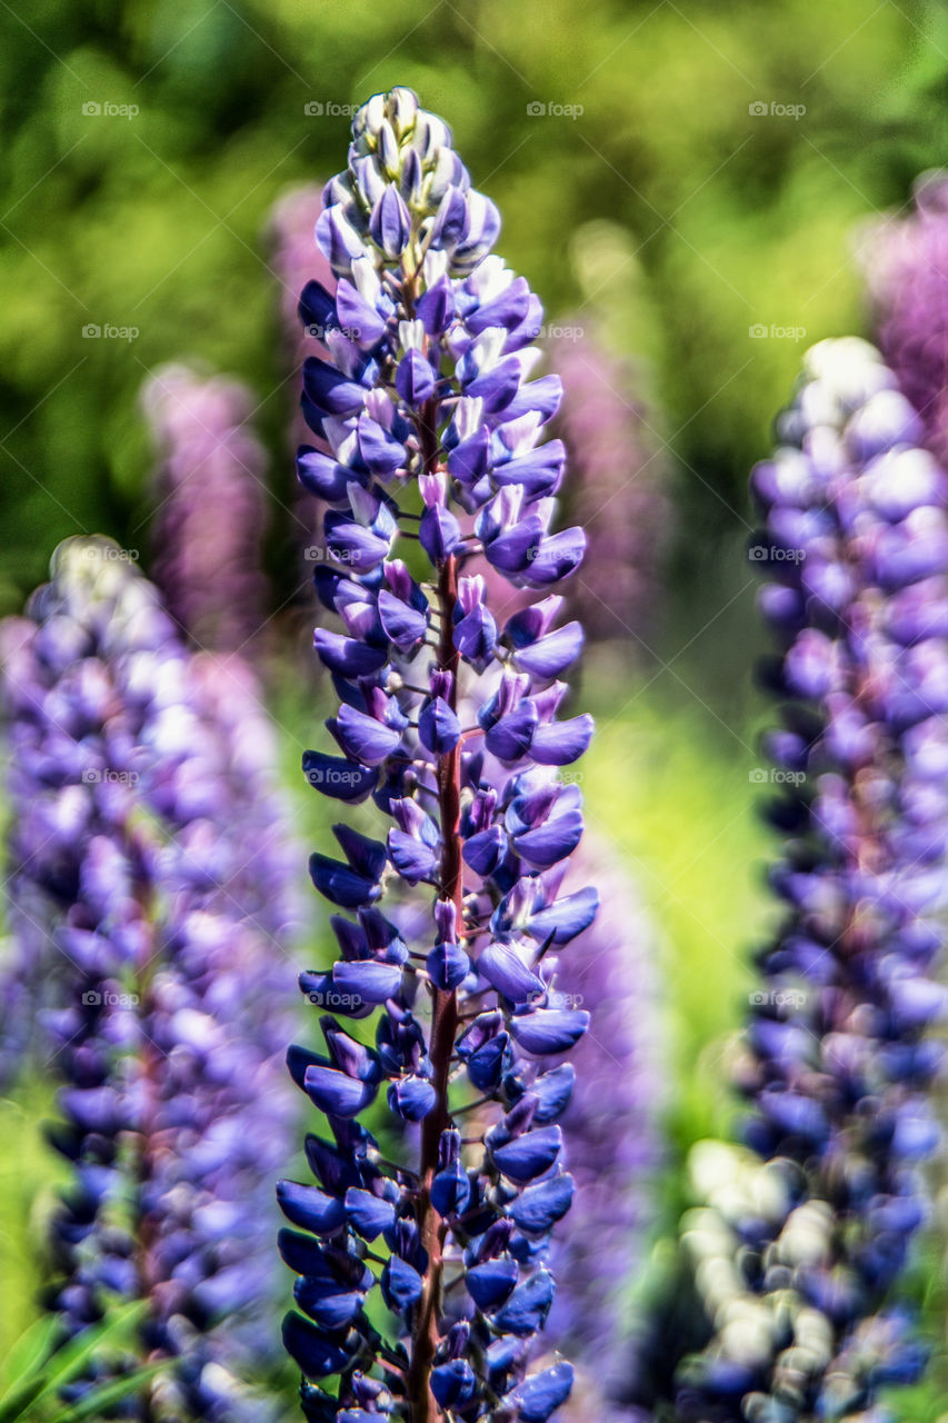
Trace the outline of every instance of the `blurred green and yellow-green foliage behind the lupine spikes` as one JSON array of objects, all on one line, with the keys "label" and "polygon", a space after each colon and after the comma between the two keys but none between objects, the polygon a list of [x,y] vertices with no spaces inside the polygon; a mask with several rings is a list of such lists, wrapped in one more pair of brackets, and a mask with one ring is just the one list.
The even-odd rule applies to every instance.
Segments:
[{"label": "blurred green and yellow-green foliage behind the lupine spikes", "polygon": [[[181,356],[258,393],[275,606],[306,582],[289,514],[296,384],[280,364],[265,228],[282,191],[342,166],[337,110],[373,91],[409,84],[448,120],[504,215],[505,259],[549,319],[595,312],[636,361],[670,451],[675,536],[648,666],[632,675],[609,647],[588,662],[582,694],[601,734],[584,790],[665,945],[673,1173],[690,1143],[727,1127],[722,1044],[767,919],[770,850],[749,783],[760,710],[747,470],[804,344],[865,330],[865,223],[902,208],[948,149],[948,10],[14,0],[0,6],[0,613],[19,610],[70,534],[147,549],[138,391]],[[290,667],[278,687],[296,784],[319,717]],[[315,842],[322,811],[300,795]],[[16,1190],[10,1171],[0,1180],[17,1279],[33,1268],[36,1191],[51,1190],[21,1120],[33,1118],[10,1106],[4,1137],[9,1123],[28,1146]],[[11,1294],[19,1328],[28,1291]]]}]

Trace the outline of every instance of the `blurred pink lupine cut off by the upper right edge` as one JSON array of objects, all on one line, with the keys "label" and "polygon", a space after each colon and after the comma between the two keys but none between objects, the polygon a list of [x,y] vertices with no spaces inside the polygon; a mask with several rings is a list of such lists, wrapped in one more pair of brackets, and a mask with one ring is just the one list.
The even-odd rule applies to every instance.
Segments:
[{"label": "blurred pink lupine cut off by the upper right edge", "polygon": [[922,438],[948,460],[948,174],[922,174],[915,211],[884,218],[864,272],[878,346],[921,418]]}]

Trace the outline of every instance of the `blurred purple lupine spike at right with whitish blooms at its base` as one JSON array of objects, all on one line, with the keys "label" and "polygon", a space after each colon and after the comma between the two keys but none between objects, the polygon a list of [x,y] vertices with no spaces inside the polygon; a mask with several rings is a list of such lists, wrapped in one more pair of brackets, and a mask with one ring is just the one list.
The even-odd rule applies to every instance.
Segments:
[{"label": "blurred purple lupine spike at right with whitish blooms at its base", "polygon": [[696,1231],[717,1332],[678,1403],[712,1423],[875,1419],[883,1386],[918,1377],[897,1286],[939,1141],[927,1030],[945,996],[931,968],[947,901],[948,478],[860,340],[809,353],[779,430],[753,478],[766,522],[752,554],[781,649],[769,750],[786,921],[760,955],[740,1070],[762,1184],[725,1191]]}]

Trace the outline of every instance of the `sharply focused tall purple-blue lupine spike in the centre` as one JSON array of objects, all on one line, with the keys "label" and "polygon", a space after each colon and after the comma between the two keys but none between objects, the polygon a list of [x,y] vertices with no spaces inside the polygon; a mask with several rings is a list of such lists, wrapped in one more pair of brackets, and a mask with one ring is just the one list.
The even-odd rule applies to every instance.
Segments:
[{"label": "sharply focused tall purple-blue lupine spike in the centre", "polygon": [[[551,1231],[574,1194],[557,1124],[574,1072],[551,1059],[589,1022],[549,1000],[558,951],[582,928],[557,895],[582,831],[578,787],[557,768],[592,731],[557,717],[581,636],[557,626],[552,588],[585,545],[581,529],[551,532],[564,457],[539,440],[559,381],[528,379],[539,303],[488,255],[494,205],[410,90],[359,110],[325,202],[316,235],[336,293],[309,283],[302,307],[320,312],[332,359],[306,361],[303,411],[332,453],[302,451],[300,478],[329,505],[333,561],[316,586],[342,632],[315,640],[342,706],[327,723],[337,750],[305,767],[335,800],[372,797],[393,827],[381,840],[339,824],[339,851],[310,861],[344,911],[340,956],[302,976],[333,1010],[326,1050],[295,1047],[289,1063],[332,1140],[307,1141],[317,1187],[279,1187],[302,1311],[283,1336],[310,1420],[542,1423],[572,1382],[565,1362],[527,1373],[554,1299]],[[467,573],[480,552],[542,593],[538,609],[495,619]],[[426,911],[407,939],[406,905]],[[377,1007],[374,1046],[339,1022]],[[417,1157],[380,1155],[357,1121],[373,1101],[410,1124]],[[500,1116],[467,1140],[484,1101]],[[396,1339],[373,1323],[376,1289]],[[330,1375],[335,1395],[319,1382]]]}]

